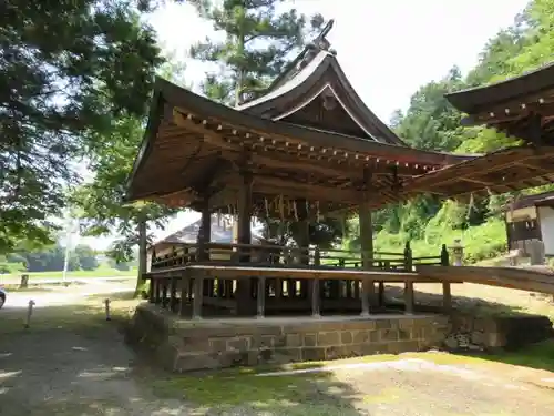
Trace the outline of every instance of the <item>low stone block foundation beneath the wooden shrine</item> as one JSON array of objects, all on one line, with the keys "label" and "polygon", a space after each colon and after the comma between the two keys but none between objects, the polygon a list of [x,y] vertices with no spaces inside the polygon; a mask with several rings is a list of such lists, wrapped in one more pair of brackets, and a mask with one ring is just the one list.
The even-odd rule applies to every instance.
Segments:
[{"label": "low stone block foundation beneath the wooden shrine", "polygon": [[174,372],[425,351],[443,344],[448,317],[376,315],[184,321],[136,308],[127,341]]}]

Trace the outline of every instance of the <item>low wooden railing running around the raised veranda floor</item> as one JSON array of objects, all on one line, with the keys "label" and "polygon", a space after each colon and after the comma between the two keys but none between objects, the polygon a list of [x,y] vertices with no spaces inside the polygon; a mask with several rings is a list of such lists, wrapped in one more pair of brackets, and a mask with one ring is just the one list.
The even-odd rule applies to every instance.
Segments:
[{"label": "low wooden railing running around the raised veranda floor", "polygon": [[443,245],[435,256],[413,257],[410,244],[402,253],[362,252],[339,248],[287,247],[253,244],[175,244],[171,253],[152,257],[152,271],[185,266],[193,263],[247,264],[268,267],[365,268],[412,271],[414,265],[448,265]]}]

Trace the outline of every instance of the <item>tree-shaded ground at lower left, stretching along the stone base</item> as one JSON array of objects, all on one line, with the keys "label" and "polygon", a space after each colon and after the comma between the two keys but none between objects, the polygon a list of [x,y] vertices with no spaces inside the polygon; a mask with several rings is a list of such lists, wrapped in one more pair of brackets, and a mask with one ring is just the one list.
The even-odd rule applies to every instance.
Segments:
[{"label": "tree-shaded ground at lower left, stretching along the stone base", "polygon": [[2,416],[361,414],[358,393],[331,373],[261,377],[261,371],[281,368],[187,375],[155,369],[123,343],[121,329],[136,301],[129,294],[110,298],[110,322],[102,296],[38,308],[28,329],[24,308],[2,311]]}]

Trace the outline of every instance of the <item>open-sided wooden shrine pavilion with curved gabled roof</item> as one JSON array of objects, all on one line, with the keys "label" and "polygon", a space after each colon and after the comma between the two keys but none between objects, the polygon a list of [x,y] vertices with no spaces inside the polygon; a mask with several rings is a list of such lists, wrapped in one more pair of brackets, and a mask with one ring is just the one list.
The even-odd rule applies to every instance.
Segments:
[{"label": "open-sided wooden shrine pavilion with curved gabled roof", "polygon": [[[194,317],[208,308],[367,315],[382,306],[384,282],[403,282],[410,312],[413,282],[435,282],[418,276],[414,264],[448,264],[444,247],[427,258],[414,258],[409,244],[376,253],[371,210],[397,201],[406,180],[474,156],[403,144],[352,89],[326,32],[235,109],[156,81],[129,200],[191,207],[202,225],[196,244],[153,260],[152,302]],[[310,246],[309,222],[351,212],[360,219],[359,252]],[[236,244],[209,241],[212,214],[236,217]],[[302,224],[304,243],[252,245],[253,216]]]}]

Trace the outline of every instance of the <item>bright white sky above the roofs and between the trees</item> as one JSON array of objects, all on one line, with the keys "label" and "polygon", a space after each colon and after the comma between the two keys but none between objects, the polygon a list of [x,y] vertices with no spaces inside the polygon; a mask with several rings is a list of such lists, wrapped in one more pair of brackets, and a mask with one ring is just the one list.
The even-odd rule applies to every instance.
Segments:
[{"label": "bright white sky above the roofs and between the trees", "polygon": [[[290,0],[300,12],[335,19],[328,39],[353,88],[368,106],[388,122],[407,109],[422,84],[440,79],[456,64],[463,73],[475,65],[489,39],[510,26],[526,0]],[[347,6],[348,4],[348,6]],[[170,3],[148,21],[164,49],[186,64],[185,80],[198,85],[209,67],[187,58],[192,44],[214,35],[189,4]],[[198,217],[182,213],[164,236]],[[102,250],[111,239],[86,239]]]}]

